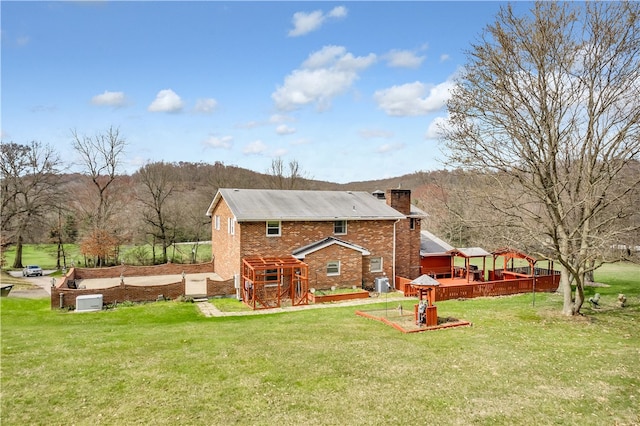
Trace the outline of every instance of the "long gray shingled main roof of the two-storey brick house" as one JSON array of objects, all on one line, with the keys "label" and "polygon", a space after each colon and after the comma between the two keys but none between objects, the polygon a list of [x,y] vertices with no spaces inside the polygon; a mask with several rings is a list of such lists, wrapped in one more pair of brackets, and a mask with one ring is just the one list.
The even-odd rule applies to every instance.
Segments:
[{"label": "long gray shingled main roof of the two-storey brick house", "polygon": [[405,216],[368,192],[230,189],[218,191],[239,222],[264,220],[396,220]]}]

